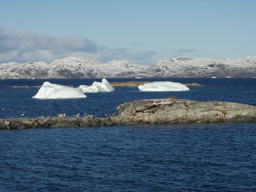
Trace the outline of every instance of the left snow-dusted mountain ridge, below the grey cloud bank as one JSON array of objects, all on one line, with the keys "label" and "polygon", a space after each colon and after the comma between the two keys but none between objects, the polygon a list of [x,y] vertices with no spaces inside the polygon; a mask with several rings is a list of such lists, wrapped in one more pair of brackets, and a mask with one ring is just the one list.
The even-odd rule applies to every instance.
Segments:
[{"label": "left snow-dusted mountain ridge, below the grey cloud bank", "polygon": [[148,68],[128,60],[103,63],[84,57],[69,57],[54,60],[50,64],[43,61],[2,63],[0,79],[127,77]]}]

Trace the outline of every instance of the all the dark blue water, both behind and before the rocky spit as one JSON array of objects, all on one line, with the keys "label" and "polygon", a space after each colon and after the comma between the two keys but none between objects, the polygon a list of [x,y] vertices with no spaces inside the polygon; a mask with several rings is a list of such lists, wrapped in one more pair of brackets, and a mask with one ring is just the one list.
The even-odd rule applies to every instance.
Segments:
[{"label": "all the dark blue water, both behind and before the rocky spit", "polygon": [[[78,86],[93,80],[50,82]],[[253,78],[161,80],[208,86],[159,93],[119,88],[73,100],[31,99],[38,89],[0,89],[0,114],[101,116],[126,101],[172,95],[256,106]],[[0,80],[0,86],[44,81]],[[255,191],[255,162],[256,123],[0,130],[0,191]]]}]

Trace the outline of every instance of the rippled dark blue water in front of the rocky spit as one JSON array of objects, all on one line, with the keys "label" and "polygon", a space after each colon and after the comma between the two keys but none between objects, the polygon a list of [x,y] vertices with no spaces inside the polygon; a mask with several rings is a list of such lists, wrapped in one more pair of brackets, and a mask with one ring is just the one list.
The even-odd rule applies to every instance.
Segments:
[{"label": "rippled dark blue water in front of the rocky spit", "polygon": [[249,123],[1,131],[0,187],[252,191],[255,128]]}]

